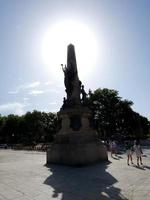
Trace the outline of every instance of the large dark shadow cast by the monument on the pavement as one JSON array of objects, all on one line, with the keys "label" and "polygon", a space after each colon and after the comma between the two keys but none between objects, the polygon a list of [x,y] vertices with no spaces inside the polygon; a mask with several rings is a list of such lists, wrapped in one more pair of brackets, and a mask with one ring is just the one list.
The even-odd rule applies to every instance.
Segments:
[{"label": "large dark shadow cast by the monument on the pavement", "polygon": [[127,200],[114,186],[117,180],[106,170],[110,163],[87,167],[47,166],[52,173],[44,184],[54,189],[53,198],[61,200]]}]

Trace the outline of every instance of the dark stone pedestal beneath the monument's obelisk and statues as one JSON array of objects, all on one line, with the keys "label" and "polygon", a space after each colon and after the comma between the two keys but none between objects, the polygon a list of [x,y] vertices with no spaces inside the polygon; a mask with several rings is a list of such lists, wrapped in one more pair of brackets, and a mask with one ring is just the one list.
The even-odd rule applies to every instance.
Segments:
[{"label": "dark stone pedestal beneath the monument's obelisk and statues", "polygon": [[58,113],[61,129],[47,151],[47,164],[87,165],[108,160],[106,147],[90,126],[91,113],[87,107],[76,106]]}]

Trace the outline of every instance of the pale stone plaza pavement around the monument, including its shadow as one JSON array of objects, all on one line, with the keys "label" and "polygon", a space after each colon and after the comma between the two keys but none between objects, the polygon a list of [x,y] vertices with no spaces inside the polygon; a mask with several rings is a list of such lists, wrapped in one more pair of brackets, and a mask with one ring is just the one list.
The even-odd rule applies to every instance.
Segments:
[{"label": "pale stone plaza pavement around the monument, including its shadow", "polygon": [[87,167],[45,166],[46,154],[0,149],[0,200],[150,200],[150,150],[144,167],[126,155]]}]

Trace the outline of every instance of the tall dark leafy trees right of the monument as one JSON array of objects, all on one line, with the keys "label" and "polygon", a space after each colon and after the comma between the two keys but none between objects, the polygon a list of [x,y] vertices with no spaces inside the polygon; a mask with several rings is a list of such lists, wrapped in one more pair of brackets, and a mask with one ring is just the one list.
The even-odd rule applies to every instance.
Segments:
[{"label": "tall dark leafy trees right of the monument", "polygon": [[134,112],[133,102],[122,100],[116,90],[107,88],[89,91],[89,106],[93,111],[93,124],[103,138],[145,137],[149,121]]}]

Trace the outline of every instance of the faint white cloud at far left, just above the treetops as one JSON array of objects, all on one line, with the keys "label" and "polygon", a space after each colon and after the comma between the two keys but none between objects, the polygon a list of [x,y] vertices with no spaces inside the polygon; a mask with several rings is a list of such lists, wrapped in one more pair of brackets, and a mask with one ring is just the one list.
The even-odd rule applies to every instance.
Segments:
[{"label": "faint white cloud at far left, just above the treetops", "polygon": [[15,114],[22,115],[25,113],[24,111],[25,104],[13,102],[0,105],[0,113],[3,115]]}]

